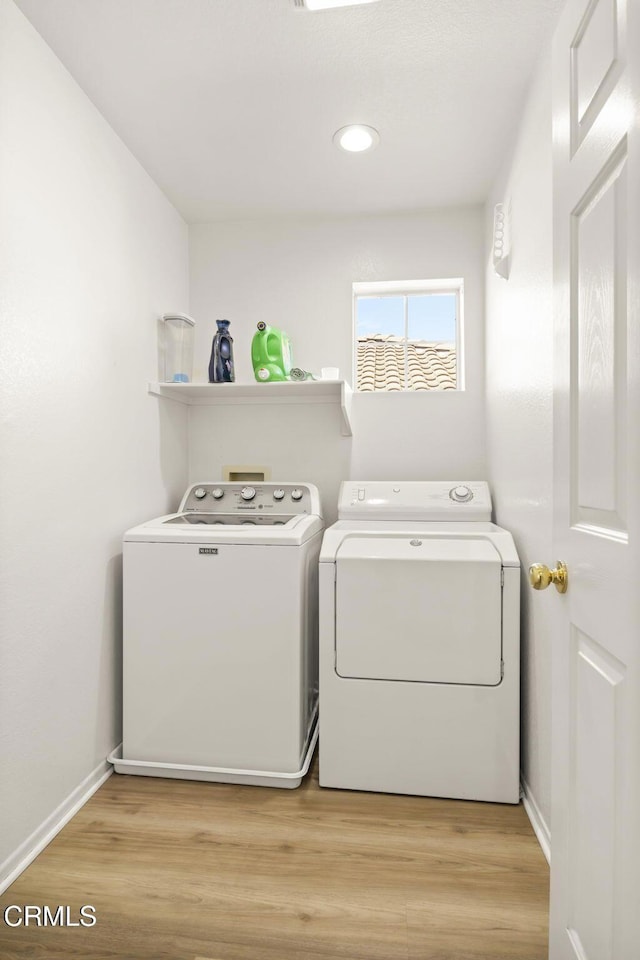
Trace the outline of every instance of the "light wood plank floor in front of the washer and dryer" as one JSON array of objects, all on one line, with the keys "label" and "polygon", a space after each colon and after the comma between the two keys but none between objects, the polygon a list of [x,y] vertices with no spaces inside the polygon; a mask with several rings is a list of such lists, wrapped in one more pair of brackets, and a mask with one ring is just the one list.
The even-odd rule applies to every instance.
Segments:
[{"label": "light wood plank floor in front of the washer and dryer", "polygon": [[522,806],[111,777],[0,898],[96,907],[2,960],[544,960]]}]

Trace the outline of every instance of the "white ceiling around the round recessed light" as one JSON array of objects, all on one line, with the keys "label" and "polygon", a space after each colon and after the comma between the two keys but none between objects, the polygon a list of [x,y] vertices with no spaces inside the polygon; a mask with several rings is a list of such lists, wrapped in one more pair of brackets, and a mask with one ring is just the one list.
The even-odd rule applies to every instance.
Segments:
[{"label": "white ceiling around the round recessed light", "polygon": [[193,222],[483,201],[563,0],[16,2]]}]

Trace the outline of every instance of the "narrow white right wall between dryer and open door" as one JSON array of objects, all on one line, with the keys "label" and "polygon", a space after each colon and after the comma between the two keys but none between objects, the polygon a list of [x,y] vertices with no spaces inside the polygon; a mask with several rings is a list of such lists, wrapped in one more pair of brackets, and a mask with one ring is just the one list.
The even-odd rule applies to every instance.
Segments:
[{"label": "narrow white right wall between dryer and open door", "polygon": [[523,567],[522,768],[550,825],[550,645],[554,606],[534,594],[526,570],[552,555],[552,196],[551,69],[539,64],[512,156],[497,177],[486,215],[511,201],[507,281],[487,269],[487,462],[496,520],[513,532]]}]

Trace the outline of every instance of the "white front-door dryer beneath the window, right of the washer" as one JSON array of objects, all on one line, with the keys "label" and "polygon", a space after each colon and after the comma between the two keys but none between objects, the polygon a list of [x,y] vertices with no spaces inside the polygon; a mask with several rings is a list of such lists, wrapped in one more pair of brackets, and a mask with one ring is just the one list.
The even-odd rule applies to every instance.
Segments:
[{"label": "white front-door dryer beneath the window, right of the washer", "polygon": [[517,803],[520,565],[483,482],[342,484],[320,553],[320,785]]}]

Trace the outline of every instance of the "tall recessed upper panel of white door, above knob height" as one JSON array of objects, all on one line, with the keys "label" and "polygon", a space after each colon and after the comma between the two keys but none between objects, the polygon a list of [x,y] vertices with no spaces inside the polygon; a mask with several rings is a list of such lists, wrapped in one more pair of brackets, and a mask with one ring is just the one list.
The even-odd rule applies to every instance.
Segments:
[{"label": "tall recessed upper panel of white door, above knob height", "polygon": [[570,522],[628,538],[627,138],[571,213]]}]

